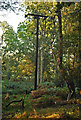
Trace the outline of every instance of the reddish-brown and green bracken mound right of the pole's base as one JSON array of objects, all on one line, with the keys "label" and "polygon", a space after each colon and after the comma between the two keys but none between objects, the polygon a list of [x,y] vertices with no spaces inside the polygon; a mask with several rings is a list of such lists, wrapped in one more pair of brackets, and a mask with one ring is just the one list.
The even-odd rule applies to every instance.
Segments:
[{"label": "reddish-brown and green bracken mound right of the pole's base", "polygon": [[67,94],[67,87],[55,87],[54,83],[44,82],[39,86],[38,90],[31,92],[32,106],[53,106],[57,101],[66,100]]}]

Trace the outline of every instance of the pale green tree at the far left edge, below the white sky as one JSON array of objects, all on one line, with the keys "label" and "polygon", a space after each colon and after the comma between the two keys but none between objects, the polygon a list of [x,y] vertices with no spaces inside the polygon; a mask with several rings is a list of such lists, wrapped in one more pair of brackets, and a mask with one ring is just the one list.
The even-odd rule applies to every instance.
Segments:
[{"label": "pale green tree at the far left edge, below the white sky", "polygon": [[17,39],[16,33],[14,33],[12,27],[9,25],[7,25],[7,27],[4,27],[2,36],[3,36],[3,41],[4,41],[4,44],[2,46],[3,48],[3,64],[2,64],[3,78],[6,75],[7,79],[10,79],[10,76],[12,75],[11,74],[12,66],[16,62],[16,58],[14,56],[17,52],[17,45],[19,41]]}]

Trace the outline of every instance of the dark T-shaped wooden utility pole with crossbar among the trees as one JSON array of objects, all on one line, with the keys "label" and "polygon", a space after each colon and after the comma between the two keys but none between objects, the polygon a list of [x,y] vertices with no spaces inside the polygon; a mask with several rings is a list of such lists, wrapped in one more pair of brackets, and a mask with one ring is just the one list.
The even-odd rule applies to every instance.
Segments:
[{"label": "dark T-shaped wooden utility pole with crossbar among the trees", "polygon": [[39,47],[39,39],[38,39],[38,35],[39,35],[39,19],[40,17],[44,17],[44,19],[46,19],[48,16],[44,16],[44,15],[37,15],[37,14],[27,14],[25,15],[25,17],[27,17],[28,15],[30,16],[34,16],[34,19],[37,19],[37,41],[36,41],[36,68],[35,68],[35,84],[34,84],[34,89],[37,89],[37,68],[38,68],[38,47]]}]

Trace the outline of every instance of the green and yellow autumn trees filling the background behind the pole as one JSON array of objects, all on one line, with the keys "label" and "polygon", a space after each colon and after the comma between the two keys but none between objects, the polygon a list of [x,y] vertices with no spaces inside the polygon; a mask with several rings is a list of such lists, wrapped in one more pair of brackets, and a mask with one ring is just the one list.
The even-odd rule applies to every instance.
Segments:
[{"label": "green and yellow autumn trees filling the background behind the pole", "polygon": [[[17,33],[6,21],[0,22],[1,36],[2,82],[3,91],[7,83],[28,83],[23,91],[40,88],[52,83],[54,88],[68,88],[69,100],[81,95],[81,2],[27,2],[24,1],[25,21],[20,22]],[[48,17],[34,17],[27,14]],[[37,81],[36,46],[37,46]],[[37,82],[37,86],[35,86]],[[29,84],[29,83],[28,83]],[[16,84],[17,85],[17,84]],[[77,91],[77,92],[76,92]],[[11,92],[11,91],[10,91]],[[34,94],[34,93],[33,93]],[[37,93],[38,94],[38,93]],[[70,97],[69,97],[70,96]]]}]

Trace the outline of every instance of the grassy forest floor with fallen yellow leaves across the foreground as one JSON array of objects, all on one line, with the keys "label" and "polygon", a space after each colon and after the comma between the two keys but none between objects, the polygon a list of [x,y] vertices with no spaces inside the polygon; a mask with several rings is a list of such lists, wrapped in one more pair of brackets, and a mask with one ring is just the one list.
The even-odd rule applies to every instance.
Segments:
[{"label": "grassy forest floor with fallen yellow leaves across the foreground", "polygon": [[[9,102],[13,100],[20,100],[23,98],[23,93],[19,94],[3,94],[2,95],[2,120],[4,119],[27,119],[27,118],[55,118],[55,119],[65,119],[65,120],[80,120],[79,117],[79,105],[78,104],[66,104],[66,105],[56,105],[50,104],[46,106],[33,106],[32,97],[27,94],[24,99],[24,108],[22,109],[22,102],[16,102],[10,104]],[[37,98],[36,98],[37,99]],[[61,100],[60,100],[61,101]]]}]

